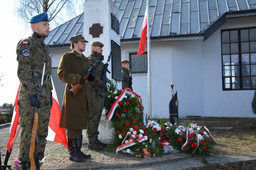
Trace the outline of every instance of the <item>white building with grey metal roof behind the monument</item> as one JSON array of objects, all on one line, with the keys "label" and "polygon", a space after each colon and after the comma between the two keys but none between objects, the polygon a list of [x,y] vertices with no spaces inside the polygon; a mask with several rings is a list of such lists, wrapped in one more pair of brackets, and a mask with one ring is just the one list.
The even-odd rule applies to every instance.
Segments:
[{"label": "white building with grey metal roof behind the monument", "polygon": [[[136,57],[146,0],[113,2],[119,9],[122,59],[131,61],[133,89],[142,96],[147,113],[147,57]],[[50,31],[45,40],[53,54],[59,101],[64,83],[56,76],[58,63],[70,50],[69,38],[83,33],[83,21],[81,14]],[[251,110],[255,21],[256,0],[150,0],[152,116],[169,117],[173,82],[180,116],[256,117]]]}]

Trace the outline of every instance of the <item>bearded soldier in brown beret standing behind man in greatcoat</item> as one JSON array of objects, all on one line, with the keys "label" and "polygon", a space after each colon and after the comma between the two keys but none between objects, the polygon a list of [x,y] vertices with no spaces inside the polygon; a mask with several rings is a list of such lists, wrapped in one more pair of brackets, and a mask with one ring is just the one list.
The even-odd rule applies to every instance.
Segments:
[{"label": "bearded soldier in brown beret standing behind man in greatcoat", "polygon": [[[99,41],[94,41],[91,43],[91,54],[87,57],[92,61],[92,65],[97,61],[103,61],[104,56],[102,55],[103,44]],[[101,77],[104,68],[104,63],[100,62],[100,64],[93,70],[95,74],[95,79],[91,82],[91,98],[92,98],[92,107],[91,114],[89,115],[89,125],[87,128],[87,137],[88,137],[88,148],[91,150],[102,150],[106,147],[105,143],[102,143],[98,139],[99,135],[99,121],[102,116],[102,111],[104,107],[104,99],[105,97],[101,97],[98,94],[99,87],[102,85]],[[102,88],[102,92],[104,96],[107,91]]]}]

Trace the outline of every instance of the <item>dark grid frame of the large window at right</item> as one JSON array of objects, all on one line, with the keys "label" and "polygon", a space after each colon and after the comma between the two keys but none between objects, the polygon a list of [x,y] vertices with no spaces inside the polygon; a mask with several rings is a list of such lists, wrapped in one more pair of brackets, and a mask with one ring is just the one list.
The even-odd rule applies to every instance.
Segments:
[{"label": "dark grid frame of the large window at right", "polygon": [[[256,27],[255,26],[252,26],[252,27],[244,27],[244,28],[232,28],[232,29],[222,29],[221,30],[221,75],[222,75],[222,91],[241,91],[241,90],[255,90],[256,88],[252,88],[252,78],[251,77],[253,77],[253,76],[255,76],[255,75],[251,75],[251,70],[250,70],[250,74],[249,74],[249,76],[248,77],[250,77],[250,85],[251,85],[251,88],[243,88],[243,77],[247,77],[247,76],[243,76],[242,75],[242,65],[250,65],[250,68],[251,68],[251,65],[256,65],[256,64],[251,64],[251,54],[252,53],[254,53],[254,52],[251,52],[250,51],[250,42],[256,42],[256,41],[251,41],[250,40],[250,29],[256,29]],[[245,41],[245,42],[248,42],[249,43],[249,53],[248,54],[250,54],[249,55],[249,64],[242,64],[242,58],[241,58],[241,30],[248,30],[248,37],[249,37],[249,39],[248,39],[248,41]],[[222,44],[225,44],[225,43],[227,43],[227,42],[223,42],[223,40],[222,40],[222,33],[224,32],[224,31],[229,31],[229,39],[230,39],[230,31],[238,31],[238,57],[239,57],[239,64],[233,64],[232,65],[232,62],[231,62],[231,55],[233,55],[233,54],[231,54],[231,48],[230,48],[230,52],[229,52],[229,54],[226,54],[226,55],[230,55],[230,65],[227,65],[227,66],[230,66],[230,76],[227,76],[227,77],[225,77],[224,76],[224,63],[223,63],[223,55],[225,55],[225,54],[223,54],[223,48],[222,48]],[[244,42],[244,41],[243,41]],[[236,43],[236,42],[230,42],[230,40],[229,40],[229,42],[228,42],[228,44],[230,45],[231,43]],[[243,53],[243,54],[246,54],[246,53]],[[236,65],[239,65],[239,76],[232,76],[232,73],[231,73],[231,71],[232,71],[232,66],[236,66]],[[236,88],[236,89],[233,89],[232,88],[232,77],[239,77],[239,86],[240,86],[240,88]],[[230,88],[225,88],[225,78],[230,78]]]}]

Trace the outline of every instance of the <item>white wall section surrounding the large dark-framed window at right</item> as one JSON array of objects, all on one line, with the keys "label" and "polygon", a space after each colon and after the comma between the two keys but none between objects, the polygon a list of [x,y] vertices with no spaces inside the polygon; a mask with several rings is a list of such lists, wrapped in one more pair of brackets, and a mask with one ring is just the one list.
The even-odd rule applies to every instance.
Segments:
[{"label": "white wall section surrounding the large dark-framed window at right", "polygon": [[228,19],[203,43],[204,115],[256,117],[251,110],[253,90],[223,91],[221,74],[221,30],[256,26],[256,16]]}]

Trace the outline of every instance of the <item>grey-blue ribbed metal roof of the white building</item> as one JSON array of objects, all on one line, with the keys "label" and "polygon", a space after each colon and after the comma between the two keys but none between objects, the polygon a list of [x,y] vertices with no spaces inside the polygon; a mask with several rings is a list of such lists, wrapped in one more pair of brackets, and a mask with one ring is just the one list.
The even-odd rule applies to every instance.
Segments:
[{"label": "grey-blue ribbed metal roof of the white building", "polygon": [[[113,2],[119,8],[121,40],[140,38],[146,0]],[[255,9],[256,0],[150,0],[151,37],[204,35],[204,31],[219,18],[223,18],[223,15],[245,13]],[[49,37],[45,40],[46,44],[69,44],[68,40],[72,35],[83,32],[83,19],[84,15],[81,14],[50,31]],[[219,22],[218,25],[223,22]]]}]

